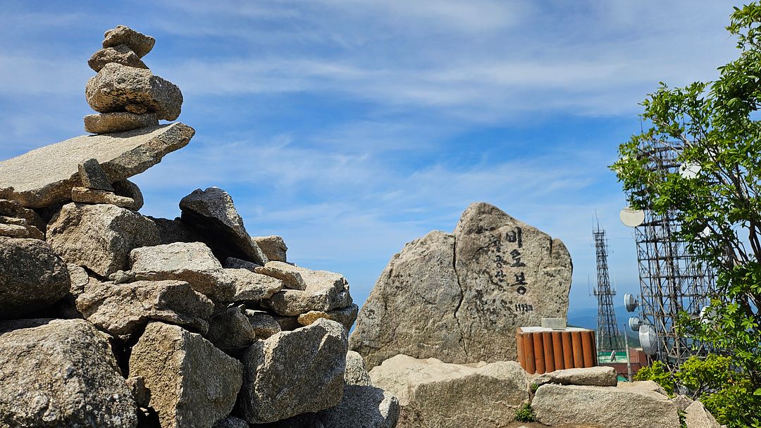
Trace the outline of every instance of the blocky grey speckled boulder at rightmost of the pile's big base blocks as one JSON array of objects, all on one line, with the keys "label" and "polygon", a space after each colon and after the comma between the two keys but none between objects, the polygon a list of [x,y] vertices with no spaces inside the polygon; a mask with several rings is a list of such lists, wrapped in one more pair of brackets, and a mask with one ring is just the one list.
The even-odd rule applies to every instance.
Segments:
[{"label": "blocky grey speckled boulder at rightmost of the pile's big base blocks", "polygon": [[347,350],[343,327],[326,319],[256,341],[242,358],[240,413],[270,423],[339,404]]}]

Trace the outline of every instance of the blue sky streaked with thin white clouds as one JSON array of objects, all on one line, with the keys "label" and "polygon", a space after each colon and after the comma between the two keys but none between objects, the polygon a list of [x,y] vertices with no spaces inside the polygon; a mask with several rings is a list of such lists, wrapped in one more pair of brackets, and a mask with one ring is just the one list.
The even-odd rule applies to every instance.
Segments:
[{"label": "blue sky streaked with thin white clouds", "polygon": [[595,212],[619,293],[638,291],[607,165],[658,81],[712,80],[737,55],[733,5],[0,0],[0,158],[84,133],[87,60],[124,24],[157,39],[144,61],[196,128],[133,179],[144,214],[221,187],[252,235],[342,272],[361,303],[405,243],[488,201],[562,239],[572,308],[594,306]]}]

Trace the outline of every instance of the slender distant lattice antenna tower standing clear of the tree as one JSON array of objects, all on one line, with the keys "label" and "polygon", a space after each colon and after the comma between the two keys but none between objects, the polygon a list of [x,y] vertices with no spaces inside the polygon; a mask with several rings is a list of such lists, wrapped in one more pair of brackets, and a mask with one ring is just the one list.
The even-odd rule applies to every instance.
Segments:
[{"label": "slender distant lattice antenna tower standing clear of the tree", "polygon": [[616,310],[613,309],[616,290],[610,287],[608,274],[608,240],[599,222],[592,229],[592,237],[597,253],[597,287],[594,288],[594,295],[597,296],[597,349],[621,350],[621,335],[616,322]]}]

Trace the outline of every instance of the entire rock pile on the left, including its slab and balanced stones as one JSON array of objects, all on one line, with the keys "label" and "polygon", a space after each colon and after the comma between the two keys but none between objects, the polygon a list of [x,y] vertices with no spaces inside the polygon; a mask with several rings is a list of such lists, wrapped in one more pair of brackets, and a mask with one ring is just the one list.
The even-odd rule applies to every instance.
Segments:
[{"label": "entire rock pile on the left, including its slab and balanced stones", "polygon": [[88,82],[91,125],[150,126],[0,162],[0,428],[393,428],[398,401],[348,350],[345,277],[250,236],[222,189],[140,214],[127,178],[194,134],[156,124],[182,97],[140,59],[153,43],[108,31]]}]

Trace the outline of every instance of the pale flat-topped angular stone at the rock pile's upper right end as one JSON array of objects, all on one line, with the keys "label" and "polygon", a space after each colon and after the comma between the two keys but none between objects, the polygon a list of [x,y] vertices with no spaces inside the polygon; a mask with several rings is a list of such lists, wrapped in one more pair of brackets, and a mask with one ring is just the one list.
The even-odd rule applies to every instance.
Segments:
[{"label": "pale flat-topped angular stone at the rock pile's upper right end", "polygon": [[280,315],[295,316],[309,311],[328,312],[352,305],[349,283],[342,274],[312,271],[291,266],[307,284],[305,290],[282,290],[263,302]]}]

